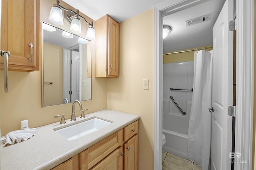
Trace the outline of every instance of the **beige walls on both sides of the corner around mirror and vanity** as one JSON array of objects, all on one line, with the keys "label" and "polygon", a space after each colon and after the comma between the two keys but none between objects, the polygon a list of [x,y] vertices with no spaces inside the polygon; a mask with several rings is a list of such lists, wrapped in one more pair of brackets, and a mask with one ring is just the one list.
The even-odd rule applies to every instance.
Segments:
[{"label": "beige walls on both sides of the corner around mirror and vanity", "polygon": [[[50,8],[55,2],[40,1],[41,21],[48,22]],[[147,170],[153,169],[153,28],[152,9],[120,23],[120,76],[115,79],[94,78],[95,45],[92,42],[92,100],[82,102],[83,107],[89,109],[87,113],[108,108],[140,115],[138,169]],[[86,28],[82,32],[86,34]],[[28,119],[29,127],[57,122],[54,115],[62,113],[70,119],[72,103],[42,108],[41,71],[9,71],[9,93],[4,93],[0,87],[2,135],[19,129],[24,119]],[[2,83],[2,71],[0,77]],[[149,90],[142,90],[145,78],[149,79]],[[78,108],[76,113],[79,115]]]}]

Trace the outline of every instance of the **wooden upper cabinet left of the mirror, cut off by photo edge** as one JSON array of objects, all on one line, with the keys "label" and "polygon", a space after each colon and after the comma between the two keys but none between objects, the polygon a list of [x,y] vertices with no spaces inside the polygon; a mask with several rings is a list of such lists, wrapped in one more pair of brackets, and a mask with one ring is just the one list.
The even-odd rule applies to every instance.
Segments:
[{"label": "wooden upper cabinet left of the mirror, cut off by photo edge", "polygon": [[[39,70],[40,0],[2,0],[1,50],[9,51],[8,67]],[[1,67],[3,66],[1,57]]]}]

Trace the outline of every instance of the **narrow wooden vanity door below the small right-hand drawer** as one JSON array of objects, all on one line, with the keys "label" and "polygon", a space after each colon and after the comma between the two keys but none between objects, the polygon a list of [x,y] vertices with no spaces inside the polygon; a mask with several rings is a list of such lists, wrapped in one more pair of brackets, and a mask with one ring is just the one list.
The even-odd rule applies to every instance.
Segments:
[{"label": "narrow wooden vanity door below the small right-hand drawer", "polygon": [[124,144],[124,170],[138,170],[138,134]]}]

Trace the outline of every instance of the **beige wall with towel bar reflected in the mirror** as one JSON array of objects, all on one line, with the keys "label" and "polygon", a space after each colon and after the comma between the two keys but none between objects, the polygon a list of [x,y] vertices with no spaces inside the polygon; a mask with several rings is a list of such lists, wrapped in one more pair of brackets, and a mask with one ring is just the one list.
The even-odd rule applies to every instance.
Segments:
[{"label": "beige wall with towel bar reflected in the mirror", "polygon": [[54,82],[44,84],[44,106],[58,105],[63,100],[63,48],[49,43],[43,46],[44,82]]}]

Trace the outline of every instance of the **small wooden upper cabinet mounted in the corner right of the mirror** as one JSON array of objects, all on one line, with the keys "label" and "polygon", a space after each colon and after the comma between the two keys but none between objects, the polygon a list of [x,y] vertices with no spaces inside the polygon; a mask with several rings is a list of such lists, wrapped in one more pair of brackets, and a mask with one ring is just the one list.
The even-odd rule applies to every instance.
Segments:
[{"label": "small wooden upper cabinet mounted in the corner right of the mirror", "polygon": [[119,75],[119,23],[106,15],[95,22],[95,77]]}]

